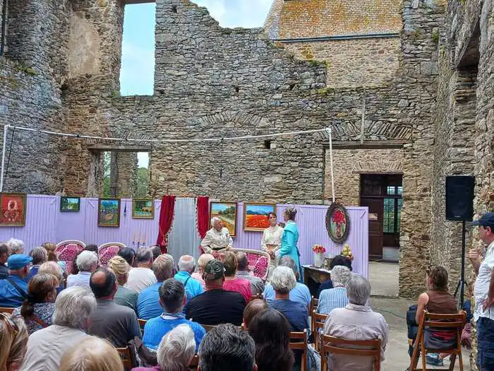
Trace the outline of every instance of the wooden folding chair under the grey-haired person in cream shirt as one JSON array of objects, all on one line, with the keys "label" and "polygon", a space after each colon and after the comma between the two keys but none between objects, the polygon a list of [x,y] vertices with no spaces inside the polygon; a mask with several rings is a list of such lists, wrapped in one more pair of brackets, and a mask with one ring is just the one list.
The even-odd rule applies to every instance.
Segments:
[{"label": "wooden folding chair under the grey-haired person in cream shirt", "polygon": [[[321,371],[330,371],[328,359],[331,354],[359,355],[372,358],[373,371],[380,371],[381,340],[345,340],[334,336],[322,336]],[[339,370],[332,370],[339,371]]]}]

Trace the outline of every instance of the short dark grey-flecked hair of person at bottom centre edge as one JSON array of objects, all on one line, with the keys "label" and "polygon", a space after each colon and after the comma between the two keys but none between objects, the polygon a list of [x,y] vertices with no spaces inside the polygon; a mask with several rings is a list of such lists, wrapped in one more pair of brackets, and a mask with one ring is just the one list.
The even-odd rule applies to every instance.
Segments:
[{"label": "short dark grey-flecked hair of person at bottom centre edge", "polygon": [[199,347],[198,371],[257,371],[255,344],[246,331],[221,324],[209,331]]}]

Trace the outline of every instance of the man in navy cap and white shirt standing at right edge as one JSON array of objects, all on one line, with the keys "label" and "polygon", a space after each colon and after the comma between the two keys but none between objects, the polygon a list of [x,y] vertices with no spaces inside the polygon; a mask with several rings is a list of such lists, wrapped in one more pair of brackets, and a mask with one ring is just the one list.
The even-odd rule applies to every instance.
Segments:
[{"label": "man in navy cap and white shirt standing at right edge", "polygon": [[471,249],[468,255],[477,273],[474,287],[477,361],[481,371],[494,370],[494,213],[484,214],[471,225],[478,225],[479,237],[487,246],[483,260],[478,249]]}]

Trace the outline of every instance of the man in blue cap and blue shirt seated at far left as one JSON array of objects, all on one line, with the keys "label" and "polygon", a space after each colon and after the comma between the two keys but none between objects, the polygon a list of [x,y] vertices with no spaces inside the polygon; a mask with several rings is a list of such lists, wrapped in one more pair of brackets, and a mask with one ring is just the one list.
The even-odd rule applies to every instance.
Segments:
[{"label": "man in blue cap and blue shirt seated at far left", "polygon": [[13,254],[8,257],[8,277],[0,280],[0,307],[20,307],[28,296],[28,282],[32,257],[25,254]]}]

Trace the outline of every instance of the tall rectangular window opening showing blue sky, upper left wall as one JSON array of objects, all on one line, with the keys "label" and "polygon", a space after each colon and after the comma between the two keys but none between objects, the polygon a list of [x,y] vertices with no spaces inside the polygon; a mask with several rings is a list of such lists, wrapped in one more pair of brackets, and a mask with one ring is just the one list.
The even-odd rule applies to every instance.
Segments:
[{"label": "tall rectangular window opening showing blue sky, upper left wall", "polygon": [[152,95],[156,4],[127,4],[123,18],[121,95]]}]

